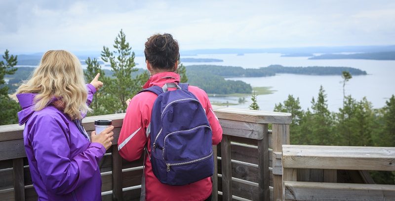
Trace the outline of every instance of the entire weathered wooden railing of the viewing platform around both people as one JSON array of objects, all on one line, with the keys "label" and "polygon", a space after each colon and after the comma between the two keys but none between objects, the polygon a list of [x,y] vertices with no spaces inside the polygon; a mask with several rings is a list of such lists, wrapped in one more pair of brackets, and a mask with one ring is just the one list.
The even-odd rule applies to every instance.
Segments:
[{"label": "entire weathered wooden railing of the viewing platform around both people", "polygon": [[[291,114],[216,107],[223,140],[214,146],[214,201],[394,201],[394,185],[377,185],[365,170],[395,171],[395,148],[289,145]],[[115,140],[124,114],[111,119]],[[272,130],[268,130],[269,124]],[[23,126],[0,126],[0,200],[36,201]],[[143,157],[127,162],[113,145],[100,162],[103,201],[138,201]],[[353,184],[352,184],[353,183]],[[284,185],[283,185],[284,184]],[[284,198],[284,199],[283,199]]]}]

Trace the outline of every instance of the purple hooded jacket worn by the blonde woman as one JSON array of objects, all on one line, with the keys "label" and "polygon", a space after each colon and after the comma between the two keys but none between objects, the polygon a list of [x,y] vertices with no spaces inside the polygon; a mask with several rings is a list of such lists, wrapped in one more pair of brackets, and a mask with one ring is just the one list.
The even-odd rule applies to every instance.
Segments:
[{"label": "purple hooded jacket worn by the blonde woman", "polygon": [[[88,84],[88,104],[95,88]],[[100,201],[99,161],[106,149],[90,143],[67,114],[47,106],[34,111],[36,94],[18,94],[19,125],[39,201]]]}]

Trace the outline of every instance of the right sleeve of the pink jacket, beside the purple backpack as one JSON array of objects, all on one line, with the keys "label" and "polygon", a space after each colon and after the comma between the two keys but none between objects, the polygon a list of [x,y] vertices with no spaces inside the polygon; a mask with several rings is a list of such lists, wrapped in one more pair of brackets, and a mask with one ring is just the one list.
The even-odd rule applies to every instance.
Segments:
[{"label": "right sleeve of the pink jacket, beside the purple backpack", "polygon": [[204,109],[206,110],[208,123],[210,123],[210,127],[213,133],[213,145],[217,145],[222,140],[222,127],[219,124],[219,120],[213,111],[213,107],[211,106],[210,100],[208,100],[207,94],[204,91],[203,93],[206,102]]}]

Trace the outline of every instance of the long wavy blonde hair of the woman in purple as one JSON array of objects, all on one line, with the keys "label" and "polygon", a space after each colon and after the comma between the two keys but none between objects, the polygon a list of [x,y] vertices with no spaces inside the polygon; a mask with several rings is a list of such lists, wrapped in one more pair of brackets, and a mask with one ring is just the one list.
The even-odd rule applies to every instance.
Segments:
[{"label": "long wavy blonde hair of the woman in purple", "polygon": [[34,110],[40,111],[53,98],[65,103],[64,113],[71,119],[82,119],[91,109],[86,105],[87,91],[79,59],[65,50],[50,50],[42,56],[32,77],[23,83],[17,94],[37,93]]}]

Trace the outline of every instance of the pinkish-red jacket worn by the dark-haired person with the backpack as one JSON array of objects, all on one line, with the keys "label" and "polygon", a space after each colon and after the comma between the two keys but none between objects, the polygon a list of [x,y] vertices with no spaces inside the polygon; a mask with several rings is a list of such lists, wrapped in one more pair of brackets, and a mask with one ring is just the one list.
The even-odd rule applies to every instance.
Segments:
[{"label": "pinkish-red jacket worn by the dark-haired person with the backpack", "polygon": [[[154,85],[163,86],[165,83],[178,83],[179,81],[180,76],[177,73],[161,72],[153,75],[143,88],[146,89]],[[197,97],[205,109],[212,129],[212,143],[218,144],[222,139],[222,128],[212,110],[207,94],[194,86],[189,86],[188,90]],[[118,138],[118,150],[119,154],[128,161],[139,159],[146,144],[151,152],[150,137],[146,131],[151,122],[151,111],[156,98],[157,95],[154,93],[143,92],[134,96],[127,107]],[[203,201],[210,196],[212,191],[210,177],[185,186],[170,186],[160,183],[152,171],[148,157],[145,161],[145,181],[147,201]]]}]

